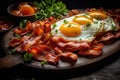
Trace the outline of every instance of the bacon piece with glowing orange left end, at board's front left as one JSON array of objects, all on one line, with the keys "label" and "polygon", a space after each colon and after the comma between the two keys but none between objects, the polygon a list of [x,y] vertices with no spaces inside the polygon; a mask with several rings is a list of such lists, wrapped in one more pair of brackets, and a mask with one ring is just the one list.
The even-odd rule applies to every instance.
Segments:
[{"label": "bacon piece with glowing orange left end, at board's front left", "polygon": [[59,56],[51,52],[51,49],[46,45],[35,45],[29,49],[29,53],[33,54],[33,57],[40,61],[47,61],[50,64],[57,64]]}]

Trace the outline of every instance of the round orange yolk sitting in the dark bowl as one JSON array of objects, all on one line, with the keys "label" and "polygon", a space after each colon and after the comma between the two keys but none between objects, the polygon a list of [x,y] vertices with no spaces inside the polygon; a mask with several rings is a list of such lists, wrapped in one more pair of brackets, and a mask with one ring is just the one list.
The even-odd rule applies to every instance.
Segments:
[{"label": "round orange yolk sitting in the dark bowl", "polygon": [[33,7],[31,7],[30,5],[23,5],[21,6],[21,13],[22,15],[32,15],[35,13],[35,10]]}]

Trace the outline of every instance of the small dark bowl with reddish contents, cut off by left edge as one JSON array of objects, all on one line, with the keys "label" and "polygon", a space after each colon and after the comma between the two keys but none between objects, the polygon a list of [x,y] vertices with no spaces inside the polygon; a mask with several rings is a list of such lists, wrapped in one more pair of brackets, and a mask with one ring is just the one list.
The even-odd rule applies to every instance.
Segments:
[{"label": "small dark bowl with reddish contents, cut off by left edge", "polygon": [[13,22],[6,17],[0,17],[0,33],[5,33],[13,27]]}]

